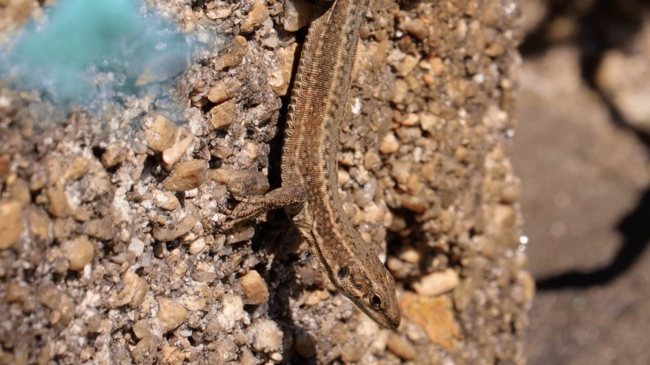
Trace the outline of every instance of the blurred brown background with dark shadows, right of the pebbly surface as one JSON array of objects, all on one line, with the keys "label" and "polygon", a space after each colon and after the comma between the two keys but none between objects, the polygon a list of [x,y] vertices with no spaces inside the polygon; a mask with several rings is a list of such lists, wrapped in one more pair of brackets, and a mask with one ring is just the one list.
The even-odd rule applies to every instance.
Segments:
[{"label": "blurred brown background with dark shadows, right of the pebbly surface", "polygon": [[528,362],[647,364],[646,5],[525,3],[513,163],[538,283]]}]

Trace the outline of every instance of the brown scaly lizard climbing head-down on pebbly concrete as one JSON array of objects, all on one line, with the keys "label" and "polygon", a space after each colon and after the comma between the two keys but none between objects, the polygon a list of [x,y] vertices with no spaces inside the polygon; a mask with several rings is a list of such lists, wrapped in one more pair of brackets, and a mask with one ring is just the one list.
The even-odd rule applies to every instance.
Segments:
[{"label": "brown scaly lizard climbing head-down on pebbly concrete", "polygon": [[[281,155],[281,186],[236,197],[224,227],[284,208],[331,283],[369,318],[396,329],[395,280],[347,218],[338,192],[339,134],[369,0],[317,0],[292,87]],[[238,210],[239,209],[239,210]]]}]

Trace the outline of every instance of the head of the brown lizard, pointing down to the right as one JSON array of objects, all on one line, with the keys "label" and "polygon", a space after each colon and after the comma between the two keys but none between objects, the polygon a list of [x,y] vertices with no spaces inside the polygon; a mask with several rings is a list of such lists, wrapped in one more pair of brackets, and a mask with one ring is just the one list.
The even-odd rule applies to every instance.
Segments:
[{"label": "head of the brown lizard, pointing down to the right", "polygon": [[399,327],[401,318],[395,280],[374,253],[367,253],[358,264],[337,268],[332,281],[344,296],[380,326]]}]

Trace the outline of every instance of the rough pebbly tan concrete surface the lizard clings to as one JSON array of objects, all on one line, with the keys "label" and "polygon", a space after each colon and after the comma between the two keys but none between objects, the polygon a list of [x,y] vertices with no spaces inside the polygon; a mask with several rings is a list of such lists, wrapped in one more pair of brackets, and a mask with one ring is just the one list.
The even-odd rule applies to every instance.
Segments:
[{"label": "rough pebbly tan concrete surface the lizard clings to", "polygon": [[[1,363],[525,363],[513,3],[375,0],[367,14],[339,183],[398,283],[396,332],[333,290],[281,212],[216,231],[233,195],[279,184],[309,2],[149,5],[224,35],[158,80],[165,95],[97,116],[0,91]],[[6,32],[39,11],[0,6]]]}]

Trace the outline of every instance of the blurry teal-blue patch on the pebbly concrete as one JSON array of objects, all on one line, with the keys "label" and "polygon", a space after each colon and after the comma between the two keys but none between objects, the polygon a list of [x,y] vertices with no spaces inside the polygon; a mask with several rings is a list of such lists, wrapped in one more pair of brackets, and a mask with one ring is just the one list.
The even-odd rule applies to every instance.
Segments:
[{"label": "blurry teal-blue patch on the pebbly concrete", "polygon": [[40,90],[57,103],[88,103],[136,94],[144,71],[155,79],[182,73],[196,42],[140,0],[58,0],[0,49],[0,76]]}]

